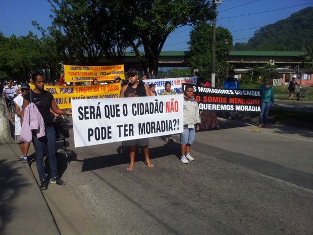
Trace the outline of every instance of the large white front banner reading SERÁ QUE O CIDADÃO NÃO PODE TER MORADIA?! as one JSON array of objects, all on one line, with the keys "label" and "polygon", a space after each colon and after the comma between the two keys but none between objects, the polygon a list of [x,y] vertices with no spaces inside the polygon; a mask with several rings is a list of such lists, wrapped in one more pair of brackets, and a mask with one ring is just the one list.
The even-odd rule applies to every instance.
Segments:
[{"label": "large white front banner reading SER\u00c1 QUE O CIDAD\u00c3O N\u00c3O PODE TER MORADIA?!", "polygon": [[183,95],[72,100],[75,147],[183,131]]}]

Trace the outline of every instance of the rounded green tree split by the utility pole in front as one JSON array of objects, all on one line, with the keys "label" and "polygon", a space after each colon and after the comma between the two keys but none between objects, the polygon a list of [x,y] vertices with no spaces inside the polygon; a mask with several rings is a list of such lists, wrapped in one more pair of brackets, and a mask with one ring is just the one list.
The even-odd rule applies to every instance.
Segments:
[{"label": "rounded green tree split by the utility pole in front", "polygon": [[[225,43],[227,39],[227,44]],[[216,68],[218,84],[221,85],[228,70],[227,55],[232,48],[232,35],[228,29],[221,26],[216,29]],[[192,69],[199,69],[201,76],[211,77],[212,72],[212,26],[201,23],[190,32],[189,63]]]}]

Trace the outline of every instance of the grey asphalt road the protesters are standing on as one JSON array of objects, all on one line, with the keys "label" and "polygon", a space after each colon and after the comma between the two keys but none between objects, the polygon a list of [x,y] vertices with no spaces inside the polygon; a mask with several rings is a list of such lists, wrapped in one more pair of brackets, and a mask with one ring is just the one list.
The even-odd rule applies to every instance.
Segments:
[{"label": "grey asphalt road the protesters are standing on", "polygon": [[220,125],[196,133],[186,165],[179,144],[151,138],[155,167],[137,154],[131,173],[121,143],[75,149],[67,139],[74,153],[58,157],[67,184],[43,192],[61,233],[313,234],[313,132]]}]

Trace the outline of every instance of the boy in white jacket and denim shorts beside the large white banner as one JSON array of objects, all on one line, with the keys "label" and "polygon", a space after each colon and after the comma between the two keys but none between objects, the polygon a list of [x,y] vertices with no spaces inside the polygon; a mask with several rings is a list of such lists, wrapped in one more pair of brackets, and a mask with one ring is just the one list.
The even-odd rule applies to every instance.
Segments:
[{"label": "boy in white jacket and denim shorts beside the large white banner", "polygon": [[190,155],[190,148],[194,140],[195,130],[199,130],[199,128],[199,106],[193,98],[193,85],[187,84],[184,91],[184,132],[180,134],[180,162],[183,164],[194,160]]}]

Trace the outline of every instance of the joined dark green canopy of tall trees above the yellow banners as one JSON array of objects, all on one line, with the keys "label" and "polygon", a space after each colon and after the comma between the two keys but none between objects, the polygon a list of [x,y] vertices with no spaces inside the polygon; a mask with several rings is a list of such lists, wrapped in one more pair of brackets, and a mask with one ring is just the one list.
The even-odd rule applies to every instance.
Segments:
[{"label": "joined dark green canopy of tall trees above the yellow banners", "polygon": [[[158,71],[163,45],[176,28],[211,19],[205,0],[47,0],[54,12],[49,33],[63,60],[94,64],[102,56],[123,61],[131,46]],[[144,50],[142,55],[141,47]]]}]

